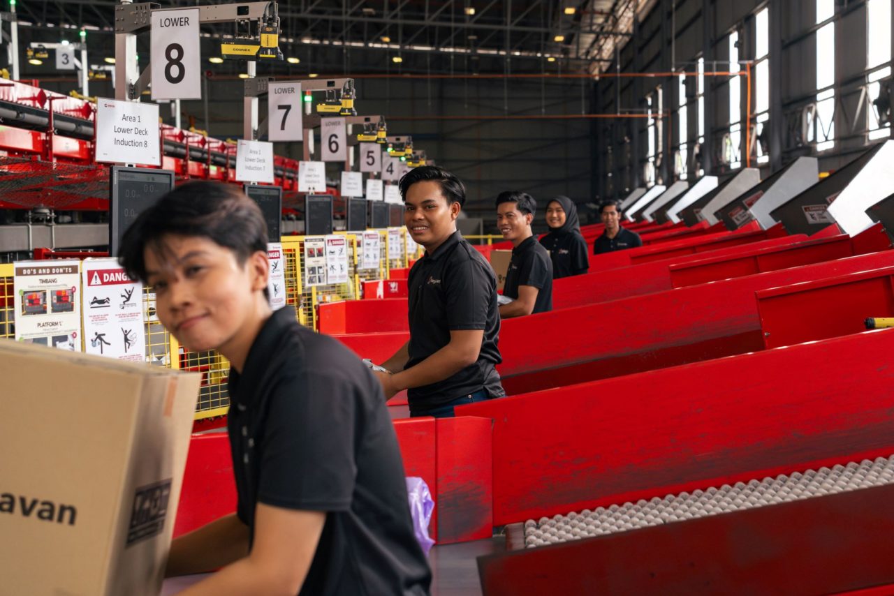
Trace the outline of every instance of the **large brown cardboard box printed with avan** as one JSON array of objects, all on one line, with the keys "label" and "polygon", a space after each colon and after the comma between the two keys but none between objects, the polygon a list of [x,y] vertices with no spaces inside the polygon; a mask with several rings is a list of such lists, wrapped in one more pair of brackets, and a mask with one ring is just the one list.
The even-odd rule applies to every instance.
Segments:
[{"label": "large brown cardboard box printed with avan", "polygon": [[0,595],[160,592],[199,380],[0,340]]}]

